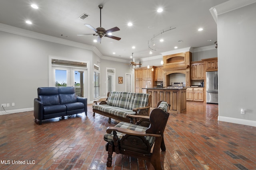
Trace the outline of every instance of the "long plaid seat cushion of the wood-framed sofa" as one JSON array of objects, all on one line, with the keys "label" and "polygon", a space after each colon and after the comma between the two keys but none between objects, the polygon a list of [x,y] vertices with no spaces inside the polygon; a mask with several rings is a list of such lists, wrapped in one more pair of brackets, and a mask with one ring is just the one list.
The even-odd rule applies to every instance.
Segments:
[{"label": "long plaid seat cushion of the wood-framed sofa", "polygon": [[107,104],[99,104],[99,105],[92,105],[93,109],[99,110],[99,111],[103,111],[106,113],[110,113],[112,115],[116,115],[119,117],[124,117],[126,118],[126,115],[131,114],[134,115],[135,112],[130,110],[130,109],[124,109],[121,107],[114,107],[114,106],[109,106]]}]

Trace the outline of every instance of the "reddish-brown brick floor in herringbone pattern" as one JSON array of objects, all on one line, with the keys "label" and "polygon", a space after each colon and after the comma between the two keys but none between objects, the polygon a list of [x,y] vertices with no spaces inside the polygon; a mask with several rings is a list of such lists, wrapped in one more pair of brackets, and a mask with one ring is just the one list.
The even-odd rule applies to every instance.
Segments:
[{"label": "reddish-brown brick floor in herringbone pattern", "polygon": [[[97,113],[92,117],[91,105],[88,116],[42,125],[33,111],[0,115],[0,169],[154,170],[150,162],[121,154],[113,154],[106,167],[103,135],[116,123]],[[170,114],[164,135],[164,170],[256,169],[256,127],[218,121],[218,105],[187,102],[186,113]]]}]

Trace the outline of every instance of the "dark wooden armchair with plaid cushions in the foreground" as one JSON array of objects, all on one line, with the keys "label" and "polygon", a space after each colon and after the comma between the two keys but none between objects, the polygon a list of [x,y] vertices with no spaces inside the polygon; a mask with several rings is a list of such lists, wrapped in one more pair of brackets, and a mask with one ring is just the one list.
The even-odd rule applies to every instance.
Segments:
[{"label": "dark wooden armchair with plaid cushions in the foreground", "polygon": [[[167,104],[168,105],[168,104]],[[170,105],[169,105],[170,106]],[[169,113],[163,109],[155,108],[150,116],[128,115],[131,119],[140,121],[136,125],[132,123],[120,122],[115,127],[108,127],[104,140],[106,151],[108,151],[107,167],[112,164],[112,154],[124,154],[135,158],[150,161],[155,170],[162,169],[160,164],[160,148],[165,151],[164,129],[169,117]],[[138,125],[140,122],[149,127]],[[153,147],[154,145],[154,147]],[[151,152],[151,149],[153,150]]]}]

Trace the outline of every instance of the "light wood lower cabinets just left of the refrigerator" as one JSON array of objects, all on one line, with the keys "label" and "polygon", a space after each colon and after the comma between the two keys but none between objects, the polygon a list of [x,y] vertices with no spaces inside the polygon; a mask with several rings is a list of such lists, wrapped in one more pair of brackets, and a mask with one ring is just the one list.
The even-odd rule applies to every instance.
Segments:
[{"label": "light wood lower cabinets just left of the refrigerator", "polygon": [[186,99],[190,101],[204,102],[204,88],[190,88],[186,90]]}]

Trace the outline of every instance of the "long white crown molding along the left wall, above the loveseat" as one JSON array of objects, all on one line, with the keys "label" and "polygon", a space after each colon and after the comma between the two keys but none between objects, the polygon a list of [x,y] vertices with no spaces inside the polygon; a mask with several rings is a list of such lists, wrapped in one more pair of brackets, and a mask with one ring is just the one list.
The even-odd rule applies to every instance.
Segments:
[{"label": "long white crown molding along the left wall, above the loveseat", "polygon": [[77,48],[81,48],[81,49],[91,50],[96,55],[98,55],[100,58],[102,57],[102,53],[100,53],[100,51],[92,45],[86,45],[86,44],[83,44],[83,43],[77,43],[77,42],[74,42],[74,41],[70,41],[70,40],[66,40],[66,39],[62,39],[62,38],[58,38],[58,37],[53,37],[53,36],[50,36],[50,35],[36,33],[34,31],[29,31],[29,30],[26,30],[26,29],[18,28],[18,27],[13,27],[13,26],[6,25],[6,24],[3,24],[3,23],[0,23],[0,31],[13,33],[13,34],[16,34],[16,35],[22,35],[22,36],[25,36],[25,37],[40,39],[40,40],[44,40],[44,41],[49,41],[49,42],[52,42],[52,43],[58,43],[58,44],[68,45],[68,46],[77,47]]}]

